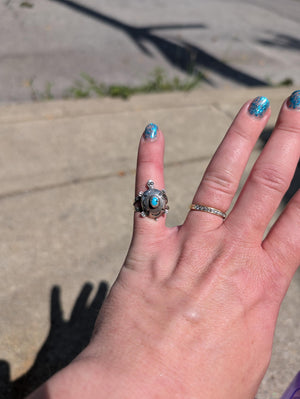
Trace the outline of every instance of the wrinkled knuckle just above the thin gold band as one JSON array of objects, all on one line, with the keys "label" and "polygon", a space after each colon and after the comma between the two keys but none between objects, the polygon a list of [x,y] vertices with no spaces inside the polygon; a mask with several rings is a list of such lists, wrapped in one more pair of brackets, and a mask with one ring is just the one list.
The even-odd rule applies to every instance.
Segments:
[{"label": "wrinkled knuckle just above the thin gold band", "polygon": [[226,169],[222,170],[222,172],[206,172],[202,183],[213,191],[217,190],[229,196],[235,193],[235,179],[232,173]]}]

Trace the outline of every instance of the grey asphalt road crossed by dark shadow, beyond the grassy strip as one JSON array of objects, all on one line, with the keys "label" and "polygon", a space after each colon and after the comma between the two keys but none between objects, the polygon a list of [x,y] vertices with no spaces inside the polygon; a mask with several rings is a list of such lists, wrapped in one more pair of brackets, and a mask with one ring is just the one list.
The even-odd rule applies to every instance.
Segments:
[{"label": "grey asphalt road crossed by dark shadow, beyond the grassy strip", "polygon": [[0,15],[0,102],[61,98],[82,73],[136,85],[158,67],[208,87],[300,85],[299,0],[2,0]]}]

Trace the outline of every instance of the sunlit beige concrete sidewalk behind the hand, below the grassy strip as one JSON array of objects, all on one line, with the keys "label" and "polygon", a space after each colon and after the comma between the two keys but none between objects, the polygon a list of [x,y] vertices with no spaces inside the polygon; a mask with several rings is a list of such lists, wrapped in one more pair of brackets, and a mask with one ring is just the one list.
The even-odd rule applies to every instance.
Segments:
[{"label": "sunlit beige concrete sidewalk behind the hand, below the grassy strip", "polygon": [[[129,101],[0,107],[0,386],[28,370],[34,379],[42,374],[34,370],[55,363],[55,356],[61,360],[74,344],[72,323],[82,324],[78,318],[91,309],[99,283],[114,281],[130,242],[136,152],[144,126],[155,122],[166,137],[168,224],[175,225],[183,222],[201,175],[242,103],[268,96],[272,127],[290,92],[199,90]],[[248,171],[262,147],[258,142]],[[89,300],[87,282],[95,287]],[[259,399],[280,398],[300,369],[299,284],[298,273],[282,306]],[[95,307],[101,302],[97,298]],[[89,320],[93,317],[95,312]]]}]

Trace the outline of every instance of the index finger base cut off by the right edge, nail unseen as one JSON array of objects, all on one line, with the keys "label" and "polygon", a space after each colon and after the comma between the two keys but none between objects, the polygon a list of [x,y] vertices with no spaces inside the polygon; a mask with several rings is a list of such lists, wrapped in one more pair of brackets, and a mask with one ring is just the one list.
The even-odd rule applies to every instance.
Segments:
[{"label": "index finger base cut off by the right edge, nail unseen", "polygon": [[289,283],[300,259],[300,190],[290,200],[262,245],[274,260],[274,265],[288,277]]}]

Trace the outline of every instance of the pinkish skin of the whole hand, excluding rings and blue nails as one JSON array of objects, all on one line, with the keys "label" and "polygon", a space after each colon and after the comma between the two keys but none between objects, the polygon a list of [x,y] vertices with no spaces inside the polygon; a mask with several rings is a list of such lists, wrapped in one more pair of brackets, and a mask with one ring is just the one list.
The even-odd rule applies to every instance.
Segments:
[{"label": "pinkish skin of the whole hand, excluding rings and blue nails", "polygon": [[[193,199],[226,211],[270,108],[248,101]],[[140,141],[136,193],[164,188],[164,138]],[[300,154],[300,111],[286,101],[225,221],[191,211],[167,228],[134,216],[134,233],[93,339],[30,399],[254,398],[267,370],[280,304],[300,263],[300,193],[266,227]],[[135,194],[136,194],[135,193]],[[145,251],[147,242],[147,251]]]}]

